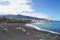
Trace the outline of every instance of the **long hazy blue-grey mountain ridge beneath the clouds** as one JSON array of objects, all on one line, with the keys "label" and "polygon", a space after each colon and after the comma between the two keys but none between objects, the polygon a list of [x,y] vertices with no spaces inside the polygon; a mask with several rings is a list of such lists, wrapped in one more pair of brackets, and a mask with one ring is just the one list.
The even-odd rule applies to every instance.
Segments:
[{"label": "long hazy blue-grey mountain ridge beneath the clouds", "polygon": [[0,15],[0,18],[6,17],[6,18],[24,18],[24,19],[35,19],[35,20],[48,20],[43,18],[37,18],[37,17],[31,17],[31,16],[25,16],[25,15]]}]

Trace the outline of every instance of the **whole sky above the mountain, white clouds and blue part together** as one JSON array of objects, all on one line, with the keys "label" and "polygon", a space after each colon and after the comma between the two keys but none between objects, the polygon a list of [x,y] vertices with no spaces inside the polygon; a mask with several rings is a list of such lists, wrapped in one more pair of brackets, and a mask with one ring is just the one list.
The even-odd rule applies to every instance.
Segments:
[{"label": "whole sky above the mountain, white clouds and blue part together", "polygon": [[60,0],[0,0],[0,15],[7,14],[60,21]]}]

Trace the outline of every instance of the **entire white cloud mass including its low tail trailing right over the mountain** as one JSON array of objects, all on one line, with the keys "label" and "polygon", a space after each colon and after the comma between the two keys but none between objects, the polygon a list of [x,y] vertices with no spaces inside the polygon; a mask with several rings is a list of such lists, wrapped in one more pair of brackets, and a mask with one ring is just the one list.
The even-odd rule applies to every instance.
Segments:
[{"label": "entire white cloud mass including its low tail trailing right over the mountain", "polygon": [[21,14],[38,18],[51,19],[45,14],[36,13],[30,4],[33,4],[32,0],[0,0],[0,15]]}]

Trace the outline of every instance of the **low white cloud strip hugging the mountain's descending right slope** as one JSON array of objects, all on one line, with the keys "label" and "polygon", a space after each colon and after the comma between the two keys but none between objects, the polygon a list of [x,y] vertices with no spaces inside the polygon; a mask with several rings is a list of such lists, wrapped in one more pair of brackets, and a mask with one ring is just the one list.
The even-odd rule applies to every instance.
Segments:
[{"label": "low white cloud strip hugging the mountain's descending right slope", "polygon": [[52,18],[50,18],[49,16],[42,14],[42,13],[22,13],[21,15],[26,15],[26,16],[31,16],[31,17],[37,17],[37,18],[44,18],[44,19],[50,19],[52,20]]}]

